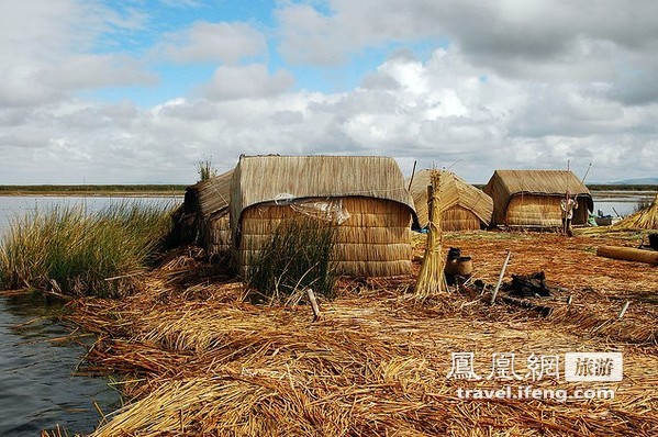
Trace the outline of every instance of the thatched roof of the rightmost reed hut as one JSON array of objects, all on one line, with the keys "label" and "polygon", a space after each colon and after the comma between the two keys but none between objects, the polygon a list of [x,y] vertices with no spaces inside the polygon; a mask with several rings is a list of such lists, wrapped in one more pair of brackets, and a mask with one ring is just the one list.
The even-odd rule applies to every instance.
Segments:
[{"label": "thatched roof of the rightmost reed hut", "polygon": [[562,197],[567,190],[585,200],[588,210],[594,210],[590,190],[569,170],[495,170],[482,189],[497,206],[506,206],[515,195]]}]

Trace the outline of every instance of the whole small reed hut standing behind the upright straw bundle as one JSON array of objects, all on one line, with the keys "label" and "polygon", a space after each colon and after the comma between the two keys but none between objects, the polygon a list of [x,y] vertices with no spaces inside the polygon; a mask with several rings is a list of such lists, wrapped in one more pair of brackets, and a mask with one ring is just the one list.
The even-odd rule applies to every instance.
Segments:
[{"label": "whole small reed hut standing behind the upright straw bundle", "polygon": [[[450,171],[439,171],[440,227],[443,231],[475,231],[487,228],[493,214],[493,201]],[[410,184],[411,182],[411,184]],[[432,170],[423,170],[408,180],[416,206],[421,227],[430,223],[427,186],[432,183]]]}]

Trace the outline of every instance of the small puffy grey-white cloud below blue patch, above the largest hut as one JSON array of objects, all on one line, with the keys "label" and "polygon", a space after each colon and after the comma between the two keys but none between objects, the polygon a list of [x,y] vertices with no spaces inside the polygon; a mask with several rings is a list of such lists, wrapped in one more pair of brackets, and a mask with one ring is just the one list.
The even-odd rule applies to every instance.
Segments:
[{"label": "small puffy grey-white cloud below blue patch, above the largest hut", "polygon": [[259,99],[276,96],[292,87],[294,78],[285,70],[269,74],[261,64],[223,66],[200,93],[210,100]]}]

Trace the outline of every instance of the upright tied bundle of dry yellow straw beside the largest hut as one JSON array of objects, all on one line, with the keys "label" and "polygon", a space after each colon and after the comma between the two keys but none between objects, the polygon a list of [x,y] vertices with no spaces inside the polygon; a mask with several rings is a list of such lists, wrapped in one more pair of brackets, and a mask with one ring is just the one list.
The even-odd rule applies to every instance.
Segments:
[{"label": "upright tied bundle of dry yellow straw beside the largest hut", "polygon": [[444,290],[444,259],[442,254],[440,205],[438,192],[440,189],[440,172],[432,171],[432,186],[427,187],[430,201],[430,234],[425,246],[425,258],[414,289],[414,296],[426,299]]}]

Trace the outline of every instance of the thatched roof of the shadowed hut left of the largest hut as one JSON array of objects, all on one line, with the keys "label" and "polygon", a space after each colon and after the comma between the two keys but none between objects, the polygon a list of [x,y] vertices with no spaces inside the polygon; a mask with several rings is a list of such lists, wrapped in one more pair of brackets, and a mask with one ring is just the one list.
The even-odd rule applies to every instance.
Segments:
[{"label": "thatched roof of the shadowed hut left of the largest hut", "polygon": [[188,199],[193,199],[193,202],[196,202],[194,208],[198,208],[203,220],[228,213],[233,170],[197,182],[187,189],[186,202]]}]

